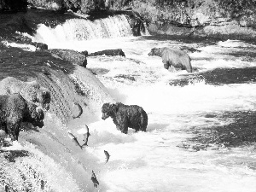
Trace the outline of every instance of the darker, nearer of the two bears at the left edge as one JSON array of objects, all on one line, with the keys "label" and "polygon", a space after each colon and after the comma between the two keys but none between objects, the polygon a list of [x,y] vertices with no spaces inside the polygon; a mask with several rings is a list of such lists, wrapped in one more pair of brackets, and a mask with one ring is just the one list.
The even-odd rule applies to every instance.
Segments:
[{"label": "darker, nearer of the two bears at the left edge", "polygon": [[19,94],[0,96],[0,125],[12,140],[18,140],[21,122],[44,126],[44,111]]}]

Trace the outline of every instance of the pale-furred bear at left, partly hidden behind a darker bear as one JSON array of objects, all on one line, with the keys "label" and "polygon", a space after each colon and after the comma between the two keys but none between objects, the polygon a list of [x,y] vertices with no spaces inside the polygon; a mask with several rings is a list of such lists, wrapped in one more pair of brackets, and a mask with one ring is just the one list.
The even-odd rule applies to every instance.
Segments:
[{"label": "pale-furred bear at left, partly hidden behind a darker bear", "polygon": [[40,86],[37,81],[24,82],[13,77],[0,81],[0,95],[12,95],[18,93],[26,102],[32,102],[38,107],[49,110],[49,90]]}]

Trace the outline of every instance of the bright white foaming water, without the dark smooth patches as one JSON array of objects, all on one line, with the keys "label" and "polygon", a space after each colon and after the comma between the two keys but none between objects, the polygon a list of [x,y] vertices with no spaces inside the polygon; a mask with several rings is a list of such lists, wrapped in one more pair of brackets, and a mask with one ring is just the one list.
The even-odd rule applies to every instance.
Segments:
[{"label": "bright white foaming water, without the dark smooth patches", "polygon": [[[67,30],[71,31],[68,27]],[[154,47],[186,45],[202,50],[189,54],[192,66],[198,68],[195,73],[217,67],[256,66],[255,61],[242,61],[229,55],[237,47],[242,47],[242,42],[228,41],[208,46],[184,44],[176,39],[160,41],[133,37],[77,41],[69,36],[57,39],[55,37],[58,34],[52,31],[40,26],[36,38],[40,36],[49,48],[89,52],[123,49],[125,58],[89,57],[87,67],[108,69],[109,73],[97,75],[97,78],[107,87],[115,101],[142,106],[148,113],[148,128],[147,132],[135,133],[129,130],[127,135],[122,134],[115,129],[112,119],[101,119],[98,107],[98,112],[84,114],[82,118],[70,121],[67,126],[62,125],[54,115],[48,114],[46,125],[39,132],[20,132],[20,143],[25,146],[23,149],[29,148],[27,150],[35,154],[35,151],[39,151],[42,165],[47,164],[50,169],[59,170],[52,173],[54,178],[46,174],[49,167],[40,170],[46,180],[60,180],[59,185],[49,184],[50,189],[65,191],[63,186],[66,184],[67,191],[255,191],[256,151],[253,143],[237,148],[219,148],[212,144],[200,151],[178,146],[189,143],[186,139],[193,137],[189,128],[200,130],[215,125],[228,125],[234,121],[207,118],[207,113],[255,110],[256,92],[253,90],[256,84],[217,86],[199,81],[184,87],[170,86],[170,79],[177,79],[187,72],[170,73],[163,68],[160,57],[148,56],[149,50]],[[42,38],[44,32],[50,35]],[[115,78],[120,74],[130,75],[136,80]],[[81,79],[86,81],[85,77]],[[82,141],[84,124],[89,126],[91,136],[89,147],[81,150],[72,143],[67,131],[72,131]],[[111,155],[107,164],[104,150]],[[34,160],[31,161],[34,165]],[[19,161],[16,164],[20,165]],[[100,183],[98,189],[93,188],[90,180],[91,170],[96,172]],[[61,177],[67,177],[66,182],[63,183]]]}]

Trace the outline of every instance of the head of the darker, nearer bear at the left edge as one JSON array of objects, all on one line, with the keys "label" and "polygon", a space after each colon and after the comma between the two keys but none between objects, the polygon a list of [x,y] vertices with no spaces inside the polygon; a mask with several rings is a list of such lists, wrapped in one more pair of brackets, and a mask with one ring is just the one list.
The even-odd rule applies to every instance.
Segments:
[{"label": "head of the darker, nearer bear at the left edge", "polygon": [[27,110],[23,121],[32,123],[33,126],[42,128],[44,126],[44,111],[32,102],[27,103]]}]

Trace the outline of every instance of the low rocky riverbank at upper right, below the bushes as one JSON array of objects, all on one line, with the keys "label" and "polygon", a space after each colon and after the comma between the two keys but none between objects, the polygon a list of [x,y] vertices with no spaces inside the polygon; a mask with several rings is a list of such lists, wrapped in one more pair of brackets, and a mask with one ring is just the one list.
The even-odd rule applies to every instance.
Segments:
[{"label": "low rocky riverbank at upper right, below the bushes", "polygon": [[205,19],[199,20],[197,17],[191,23],[179,23],[168,21],[151,22],[148,31],[151,34],[174,35],[182,37],[195,38],[220,38],[220,39],[254,39],[256,37],[256,28],[253,17],[230,19],[225,17],[216,17],[213,19],[201,15]]}]

